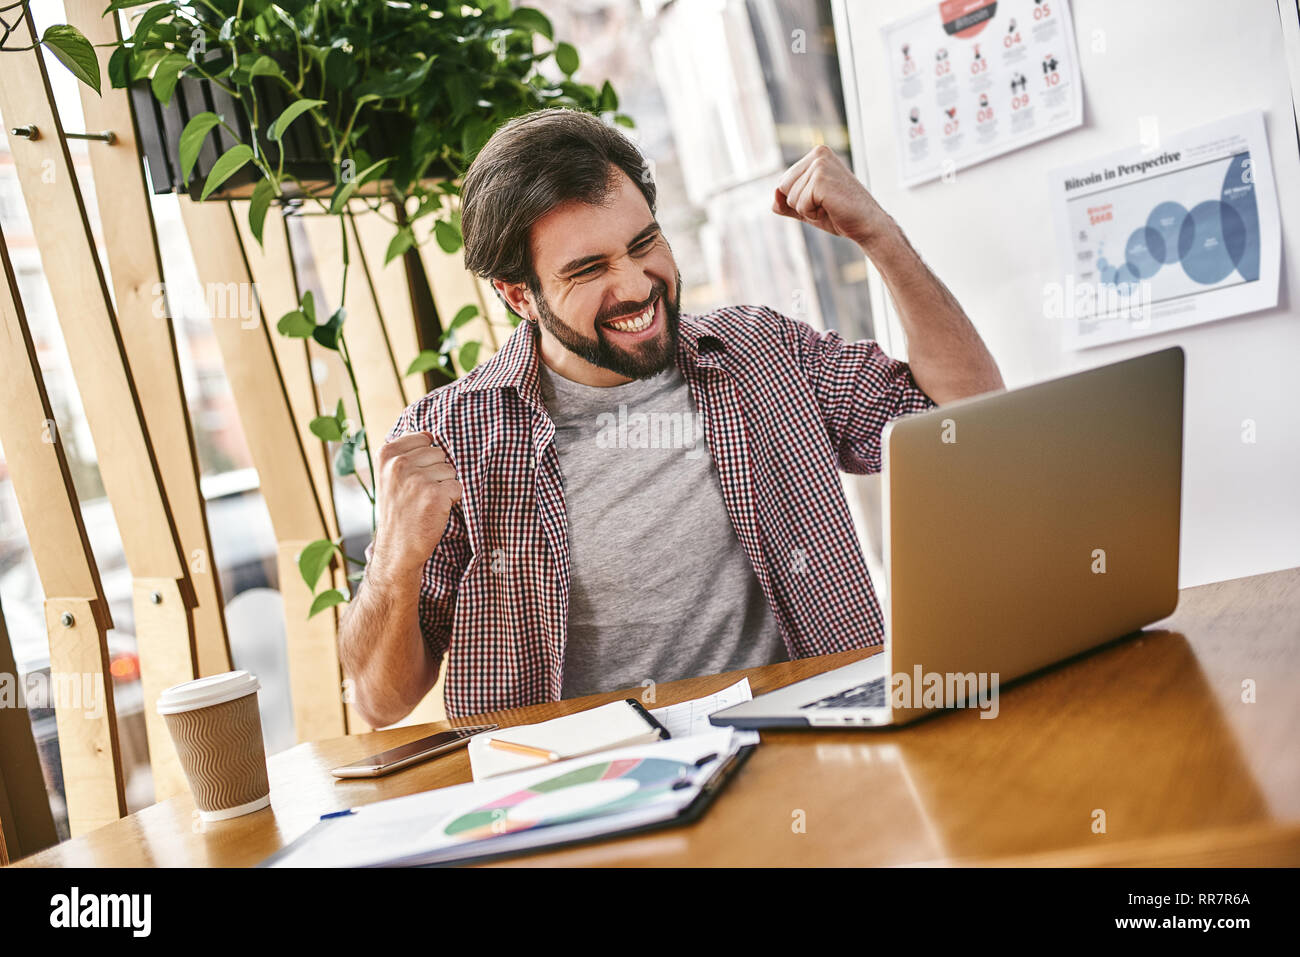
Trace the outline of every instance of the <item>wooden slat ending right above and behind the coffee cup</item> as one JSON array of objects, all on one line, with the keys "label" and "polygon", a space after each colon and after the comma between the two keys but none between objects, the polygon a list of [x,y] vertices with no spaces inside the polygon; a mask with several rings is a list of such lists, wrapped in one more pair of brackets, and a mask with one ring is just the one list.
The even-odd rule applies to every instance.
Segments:
[{"label": "wooden slat ending right above and behind the coffee cup", "polygon": [[[120,36],[116,14],[101,16],[103,7],[100,0],[64,0],[68,22],[92,44],[109,44]],[[98,46],[96,51],[100,73],[107,77],[112,47]],[[198,674],[216,675],[230,670],[230,644],[199,489],[199,460],[181,384],[176,330],[170,309],[165,317],[159,317],[156,308],[162,289],[162,261],[144,166],[136,150],[135,117],[125,90],[114,90],[107,82],[101,94],[84,83],[78,83],[78,90],[86,127],[112,130],[116,137],[112,146],[91,144],[90,161],[99,186],[95,200],[117,298],[118,328],[198,598],[192,612]],[[230,306],[242,302],[238,295],[222,296],[222,300]],[[146,628],[174,627],[176,620],[164,614],[157,623],[146,620],[142,624]],[[165,641],[166,632],[159,637]]]}]

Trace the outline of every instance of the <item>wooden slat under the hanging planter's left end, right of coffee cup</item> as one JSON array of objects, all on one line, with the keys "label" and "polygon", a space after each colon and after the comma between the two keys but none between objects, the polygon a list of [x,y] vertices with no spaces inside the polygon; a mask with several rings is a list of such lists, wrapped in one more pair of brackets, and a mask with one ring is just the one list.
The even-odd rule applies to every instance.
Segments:
[{"label": "wooden slat under the hanging planter's left end, right of coffee cup", "polygon": [[[194,203],[183,196],[179,204],[200,280],[251,282],[229,204]],[[213,330],[278,541],[294,723],[298,740],[308,741],[348,729],[341,692],[338,615],[330,609],[307,618],[312,594],[296,566],[296,555],[306,545],[329,536],[272,345],[272,337],[280,333],[259,312],[252,329],[214,321]]]}]

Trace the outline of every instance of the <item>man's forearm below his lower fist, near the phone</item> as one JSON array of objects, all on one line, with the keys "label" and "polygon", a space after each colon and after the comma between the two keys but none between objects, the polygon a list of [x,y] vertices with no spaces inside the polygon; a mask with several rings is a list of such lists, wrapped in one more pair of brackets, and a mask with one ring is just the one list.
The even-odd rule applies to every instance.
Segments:
[{"label": "man's forearm below his lower fist, near the phone", "polygon": [[438,676],[420,633],[420,571],[385,572],[372,562],[339,622],[343,674],[374,727],[408,715]]}]

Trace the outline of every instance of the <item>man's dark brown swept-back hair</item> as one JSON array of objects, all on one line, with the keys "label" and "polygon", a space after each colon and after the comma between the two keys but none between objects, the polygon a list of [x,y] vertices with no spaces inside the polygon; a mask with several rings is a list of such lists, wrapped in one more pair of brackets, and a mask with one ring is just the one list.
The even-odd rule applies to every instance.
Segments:
[{"label": "man's dark brown swept-back hair", "polygon": [[603,204],[618,185],[611,164],[637,185],[653,215],[655,185],[641,151],[599,117],[552,107],[503,124],[462,183],[465,268],[540,291],[529,247],[533,224],[569,200]]}]

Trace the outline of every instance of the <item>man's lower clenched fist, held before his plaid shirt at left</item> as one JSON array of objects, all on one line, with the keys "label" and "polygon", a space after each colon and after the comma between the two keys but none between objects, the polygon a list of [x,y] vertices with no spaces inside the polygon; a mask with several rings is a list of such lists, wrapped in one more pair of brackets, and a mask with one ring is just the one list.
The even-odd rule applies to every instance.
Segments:
[{"label": "man's lower clenched fist, held before his plaid shirt at left", "polygon": [[463,489],[447,454],[428,432],[411,432],[378,450],[373,559],[390,573],[424,566],[447,531]]}]

